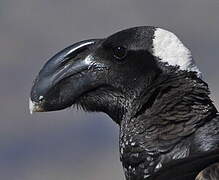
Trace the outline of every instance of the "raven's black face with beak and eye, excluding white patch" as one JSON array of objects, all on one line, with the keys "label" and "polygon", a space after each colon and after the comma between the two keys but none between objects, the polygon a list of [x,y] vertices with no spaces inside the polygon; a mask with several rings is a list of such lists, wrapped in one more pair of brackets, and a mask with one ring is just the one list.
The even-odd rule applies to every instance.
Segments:
[{"label": "raven's black face with beak and eye, excluding white patch", "polygon": [[152,31],[132,28],[57,53],[34,81],[30,110],[54,111],[81,104],[98,111],[109,98],[117,103],[120,97],[134,96],[158,72],[149,52]]}]

